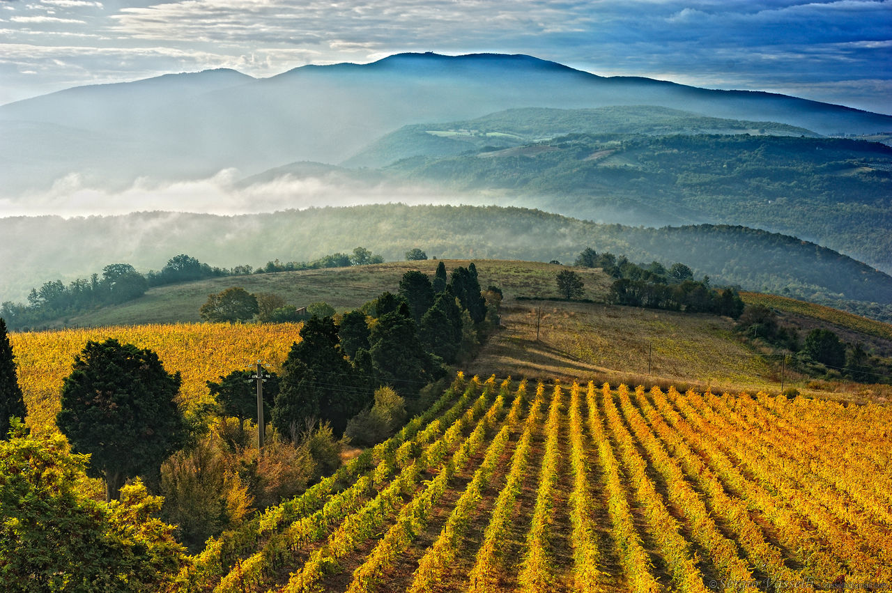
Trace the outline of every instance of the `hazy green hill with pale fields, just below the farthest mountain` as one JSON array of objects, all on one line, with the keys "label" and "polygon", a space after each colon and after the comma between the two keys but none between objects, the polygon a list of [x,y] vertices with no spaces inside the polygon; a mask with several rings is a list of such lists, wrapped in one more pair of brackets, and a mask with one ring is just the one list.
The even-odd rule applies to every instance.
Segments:
[{"label": "hazy green hill with pale fields, just below the farthest mountain", "polygon": [[402,128],[379,138],[343,162],[345,167],[384,167],[412,156],[451,156],[484,147],[507,148],[567,134],[762,134],[817,136],[771,121],[740,121],[653,105],[598,109],[530,107],[482,118]]}]

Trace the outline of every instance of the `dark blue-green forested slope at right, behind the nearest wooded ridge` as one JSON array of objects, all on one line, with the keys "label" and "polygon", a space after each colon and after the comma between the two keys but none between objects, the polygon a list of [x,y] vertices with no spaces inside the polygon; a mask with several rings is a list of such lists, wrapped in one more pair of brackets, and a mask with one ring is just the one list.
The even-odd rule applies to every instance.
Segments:
[{"label": "dark blue-green forested slope at right, behind the nearest wooded ridge", "polygon": [[593,220],[796,235],[892,270],[892,148],[842,138],[564,136],[384,169]]}]

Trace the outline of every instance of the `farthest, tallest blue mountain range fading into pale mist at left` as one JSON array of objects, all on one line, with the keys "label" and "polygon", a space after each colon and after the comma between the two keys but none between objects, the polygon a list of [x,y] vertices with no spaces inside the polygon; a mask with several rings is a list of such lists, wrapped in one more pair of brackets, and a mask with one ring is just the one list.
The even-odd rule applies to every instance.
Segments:
[{"label": "farthest, tallest blue mountain range fading into pale mist at left", "polygon": [[[186,77],[186,78],[184,78]],[[186,82],[184,82],[186,80]],[[134,100],[133,97],[136,97]],[[139,176],[245,174],[291,161],[339,162],[422,121],[473,119],[521,107],[652,104],[711,117],[772,120],[819,134],[892,128],[892,117],[784,95],[714,91],[648,78],[603,78],[524,55],[400,54],[366,65],[307,66],[252,80],[231,71],[89,86],[0,107],[6,194],[51,185],[60,171],[121,183]],[[36,126],[34,134],[22,122]],[[55,124],[108,137],[54,153]],[[70,133],[70,130],[65,132]],[[130,143],[122,151],[120,143]],[[26,146],[23,153],[17,146]]]}]

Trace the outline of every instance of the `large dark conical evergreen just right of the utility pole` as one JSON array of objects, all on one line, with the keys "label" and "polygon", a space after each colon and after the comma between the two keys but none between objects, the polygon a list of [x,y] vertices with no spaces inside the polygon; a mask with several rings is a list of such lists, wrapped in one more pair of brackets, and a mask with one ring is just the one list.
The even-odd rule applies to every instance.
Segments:
[{"label": "large dark conical evergreen just right of the utility pole", "polygon": [[295,436],[314,419],[343,432],[347,420],[371,402],[371,393],[343,356],[331,317],[310,317],[304,323],[301,342],[292,345],[283,367],[272,422],[286,436]]}]

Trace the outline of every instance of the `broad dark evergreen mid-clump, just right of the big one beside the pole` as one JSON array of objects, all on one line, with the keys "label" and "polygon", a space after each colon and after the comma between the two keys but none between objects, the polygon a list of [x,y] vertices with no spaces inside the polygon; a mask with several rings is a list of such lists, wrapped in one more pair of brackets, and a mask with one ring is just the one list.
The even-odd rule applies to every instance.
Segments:
[{"label": "broad dark evergreen mid-clump, just right of the big one beside the pole", "polygon": [[382,383],[405,395],[430,381],[433,360],[418,340],[415,322],[402,311],[379,317],[370,342],[369,354]]}]

